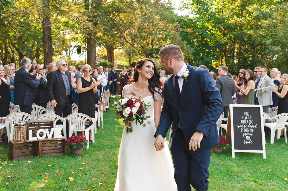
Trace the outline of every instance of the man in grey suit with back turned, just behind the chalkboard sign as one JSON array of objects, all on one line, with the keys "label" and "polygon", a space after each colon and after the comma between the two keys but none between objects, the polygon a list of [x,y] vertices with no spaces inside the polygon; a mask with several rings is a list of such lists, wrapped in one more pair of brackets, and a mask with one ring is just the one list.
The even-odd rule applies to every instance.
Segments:
[{"label": "man in grey suit with back turned, just behind the chalkboard sign", "polygon": [[224,112],[225,118],[228,117],[229,105],[233,104],[232,96],[234,96],[235,94],[235,82],[232,78],[229,78],[227,73],[228,73],[227,66],[219,66],[218,74],[221,77],[216,79],[216,85],[220,91],[223,103],[222,113]]}]

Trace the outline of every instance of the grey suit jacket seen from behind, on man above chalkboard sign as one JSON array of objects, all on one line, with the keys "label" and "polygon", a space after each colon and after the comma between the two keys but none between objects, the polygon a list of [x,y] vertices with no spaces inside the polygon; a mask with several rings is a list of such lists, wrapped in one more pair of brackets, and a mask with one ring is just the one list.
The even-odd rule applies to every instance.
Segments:
[{"label": "grey suit jacket seen from behind, on man above chalkboard sign", "polygon": [[227,75],[223,75],[216,79],[216,85],[221,94],[223,107],[233,104],[232,96],[235,94],[234,80]]}]

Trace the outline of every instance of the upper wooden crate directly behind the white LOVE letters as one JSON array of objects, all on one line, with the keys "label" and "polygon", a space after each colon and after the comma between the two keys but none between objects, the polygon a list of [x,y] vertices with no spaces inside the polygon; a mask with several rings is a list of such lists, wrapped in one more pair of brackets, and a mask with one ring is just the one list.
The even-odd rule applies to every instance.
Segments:
[{"label": "upper wooden crate directly behind the white LOVE letters", "polygon": [[[26,121],[26,125],[27,125],[26,139],[29,140],[29,130],[32,130],[32,137],[36,137],[37,130],[39,130],[39,129],[48,129],[50,132],[51,128],[54,128],[54,121],[52,121],[52,120],[31,120],[31,121]],[[39,135],[43,136],[43,133],[41,132]],[[47,137],[47,135],[46,135],[46,137]],[[53,133],[52,137],[54,137],[54,133]]]}]

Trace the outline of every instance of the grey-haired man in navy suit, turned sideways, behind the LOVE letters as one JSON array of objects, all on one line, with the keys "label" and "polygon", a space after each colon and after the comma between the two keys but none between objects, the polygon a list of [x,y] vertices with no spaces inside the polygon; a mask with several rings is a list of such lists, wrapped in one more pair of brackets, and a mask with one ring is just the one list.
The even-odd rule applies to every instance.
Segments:
[{"label": "grey-haired man in navy suit, turned sideways, behind the LOVE letters", "polygon": [[36,79],[28,72],[31,69],[31,60],[23,58],[20,61],[20,70],[14,78],[14,104],[20,106],[21,112],[31,115],[32,104],[35,97],[35,89],[39,86],[40,75]]}]

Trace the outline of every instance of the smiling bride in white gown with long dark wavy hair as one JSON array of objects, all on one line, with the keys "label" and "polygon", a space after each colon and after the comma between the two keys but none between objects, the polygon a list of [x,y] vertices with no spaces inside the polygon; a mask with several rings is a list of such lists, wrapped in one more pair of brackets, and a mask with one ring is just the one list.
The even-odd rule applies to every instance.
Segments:
[{"label": "smiling bride in white gown with long dark wavy hair", "polygon": [[150,116],[147,120],[151,121],[151,125],[146,121],[146,126],[143,127],[131,121],[134,132],[128,134],[126,126],[124,127],[114,191],[177,191],[167,142],[163,152],[157,152],[154,146],[154,133],[161,115],[162,91],[159,78],[154,62],[147,58],[140,59],[130,79],[132,84],[123,88],[123,98],[134,93],[146,105],[150,102],[151,106],[148,107],[145,115]]}]

